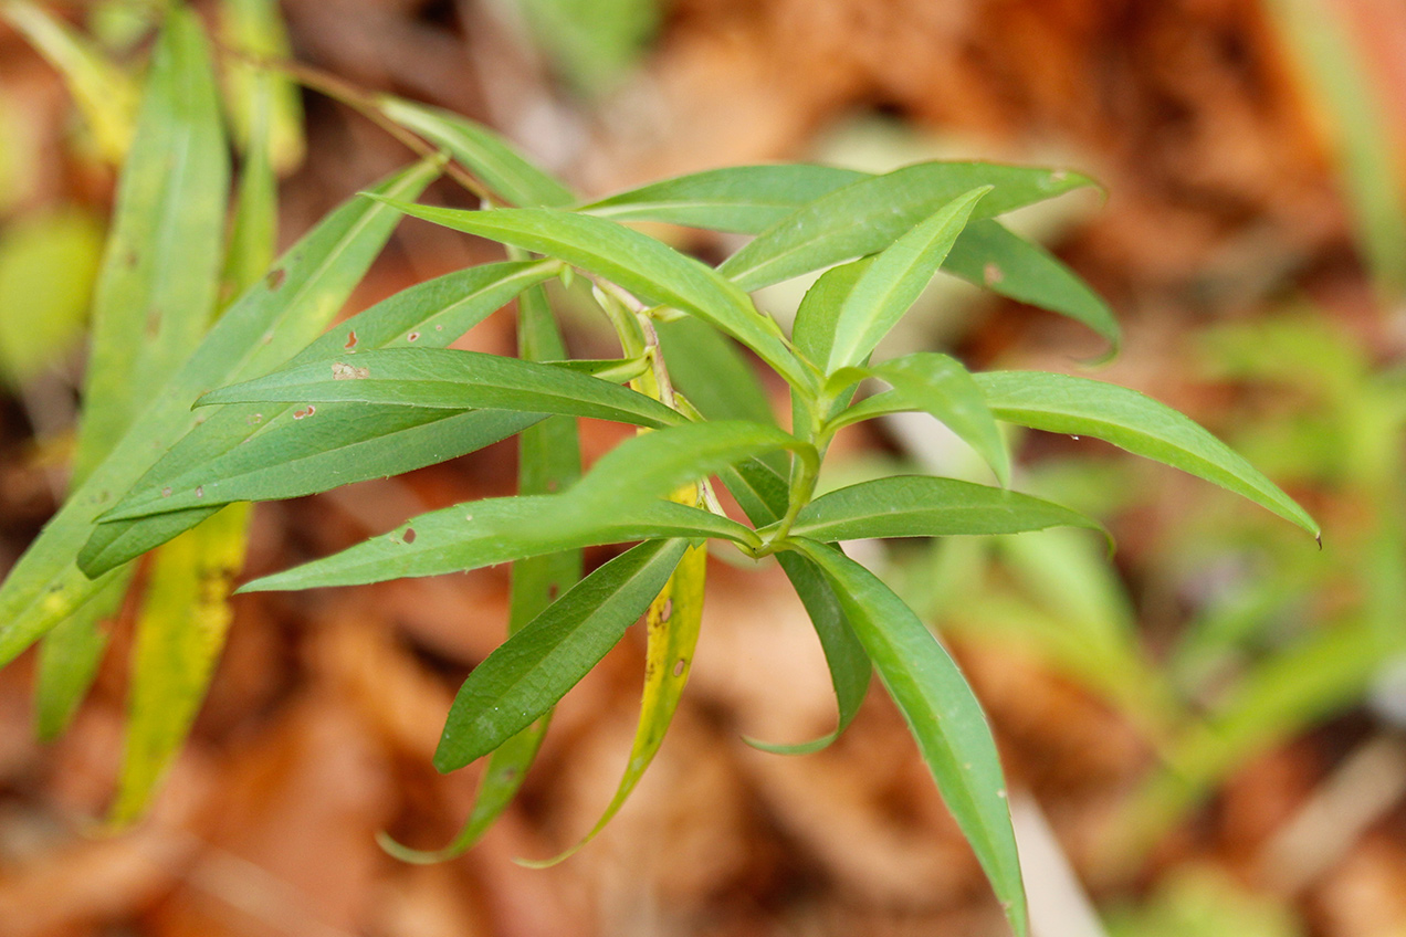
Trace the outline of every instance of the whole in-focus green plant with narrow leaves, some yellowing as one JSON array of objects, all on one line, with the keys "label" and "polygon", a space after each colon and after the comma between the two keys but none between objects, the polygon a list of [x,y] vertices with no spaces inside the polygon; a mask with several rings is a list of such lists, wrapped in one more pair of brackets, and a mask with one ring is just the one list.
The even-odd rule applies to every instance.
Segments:
[{"label": "whole in-focus green plant with narrow leaves, some yellowing", "polygon": [[[920,163],[884,176],[749,166],[582,202],[478,125],[323,83],[419,149],[441,153],[352,198],[270,264],[267,128],[277,97],[264,77],[239,91],[250,118],[235,233],[222,250],[228,167],[212,65],[195,20],[180,6],[166,15],[100,278],[75,490],[0,587],[0,660],[46,636],[41,718],[53,732],[91,679],[97,622],[135,561],[159,549],[138,622],[120,818],[141,811],[204,693],[242,553],[238,506],[406,472],[519,435],[517,496],[425,514],[243,586],[308,589],[515,563],[509,638],[461,687],[434,759],[449,771],[491,756],[477,806],[449,848],[423,854],[387,841],[391,851],[426,860],[471,846],[520,784],[554,702],[644,615],[644,702],[600,823],[609,820],[683,691],[704,545],[721,541],[782,565],[814,622],[838,701],[834,733],[762,747],[799,753],[828,743],[877,670],[1024,934],[1005,784],[980,707],[932,632],[835,544],[1101,530],[1078,511],[1005,487],[1011,459],[998,421],[1108,440],[1317,532],[1244,459],[1136,392],[1056,374],[970,374],[927,351],[870,361],[939,268],[1116,343],[1105,305],[995,221],[1088,185],[1083,176],[981,163]],[[187,153],[174,170],[170,152]],[[484,208],[415,204],[441,170]],[[498,240],[510,258],[418,284],[328,329],[402,215]],[[714,268],[631,222],[755,237]],[[790,334],[748,296],[823,270]],[[568,355],[544,289],[557,278],[589,284],[619,358]],[[222,295],[232,299],[207,329]],[[447,348],[513,299],[519,358]],[[789,431],[748,355],[789,388]],[[143,396],[156,376],[165,386]],[[887,389],[855,402],[869,381]],[[835,433],[901,410],[948,424],[1001,486],[910,475],[817,497]],[[582,472],[576,417],[641,433]],[[724,513],[717,485],[747,523]],[[626,542],[638,544],[583,575],[582,548]]]}]

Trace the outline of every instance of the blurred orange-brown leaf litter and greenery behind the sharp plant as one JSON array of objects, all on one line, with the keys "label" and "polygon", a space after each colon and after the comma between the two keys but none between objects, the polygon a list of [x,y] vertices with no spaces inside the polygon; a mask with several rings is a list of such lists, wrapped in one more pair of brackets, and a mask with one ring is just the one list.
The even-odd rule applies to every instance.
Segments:
[{"label": "blurred orange-brown leaf litter and greenery behind the sharp plant", "polygon": [[[73,97],[0,18],[0,569],[52,514],[111,209],[111,107],[150,1],[39,4],[115,73]],[[194,4],[215,15],[218,3]],[[15,4],[6,10],[13,13]],[[1039,937],[1406,936],[1406,7],[1393,0],[285,0],[294,58],[499,129],[589,194],[714,166],[1063,164],[1107,197],[1019,216],[1112,303],[1122,354],[1063,319],[935,284],[910,347],[1140,389],[1301,500],[1289,524],[1095,441],[1028,434],[1017,486],[1101,518],[866,562],[984,702]],[[39,44],[44,45],[42,42]],[[52,48],[48,58],[53,58]],[[125,69],[125,70],[124,70]],[[284,243],[409,153],[304,96]],[[111,129],[111,128],[108,128]],[[430,198],[458,199],[450,188]],[[659,232],[717,260],[737,243]],[[495,257],[401,226],[363,308]],[[785,316],[799,287],[759,298]],[[599,326],[572,322],[589,348]],[[510,353],[512,317],[471,336]],[[779,391],[779,388],[778,388]],[[778,405],[780,406],[780,400]],[[588,457],[619,430],[586,426]],[[841,476],[980,478],[925,420],[851,430]],[[508,445],[254,513],[245,576],[512,490]],[[603,555],[595,556],[600,559]],[[502,639],[506,570],[235,598],[190,745],[143,823],[101,834],[131,608],[93,697],[34,740],[34,657],[0,671],[0,934],[264,937],[1002,934],[980,870],[880,691],[830,729],[813,632],[778,570],[714,563],[689,693],[588,850],[637,715],[633,634],[558,709],[526,788],[468,856],[437,847],[477,767],[430,767],[458,681]]]}]

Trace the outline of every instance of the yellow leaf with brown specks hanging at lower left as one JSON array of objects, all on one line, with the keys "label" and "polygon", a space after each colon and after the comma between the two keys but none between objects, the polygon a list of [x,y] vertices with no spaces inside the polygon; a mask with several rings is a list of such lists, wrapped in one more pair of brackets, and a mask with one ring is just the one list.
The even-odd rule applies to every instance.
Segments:
[{"label": "yellow leaf with brown specks hanging at lower left", "polygon": [[135,820],[180,752],[205,698],[233,618],[228,597],[243,565],[247,506],[221,511],[166,544],[136,620],[127,738],[110,819]]}]

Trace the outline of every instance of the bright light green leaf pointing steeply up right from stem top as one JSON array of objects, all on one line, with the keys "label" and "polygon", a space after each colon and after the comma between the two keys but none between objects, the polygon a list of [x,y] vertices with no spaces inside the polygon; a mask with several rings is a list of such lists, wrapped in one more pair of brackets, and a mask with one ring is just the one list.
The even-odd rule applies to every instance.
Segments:
[{"label": "bright light green leaf pointing steeply up right from stem top", "polygon": [[942,266],[972,209],[991,192],[973,188],[896,240],[855,280],[835,320],[825,372],[862,364],[908,312]]}]

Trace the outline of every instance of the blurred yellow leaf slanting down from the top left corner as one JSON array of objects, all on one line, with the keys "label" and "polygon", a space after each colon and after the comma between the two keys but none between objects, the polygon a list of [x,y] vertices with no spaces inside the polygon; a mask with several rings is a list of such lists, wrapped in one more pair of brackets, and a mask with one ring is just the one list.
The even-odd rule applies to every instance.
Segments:
[{"label": "blurred yellow leaf slanting down from the top left corner", "polygon": [[132,140],[138,93],[132,80],[84,37],[28,0],[6,0],[0,15],[63,74],[104,160],[122,162]]}]

